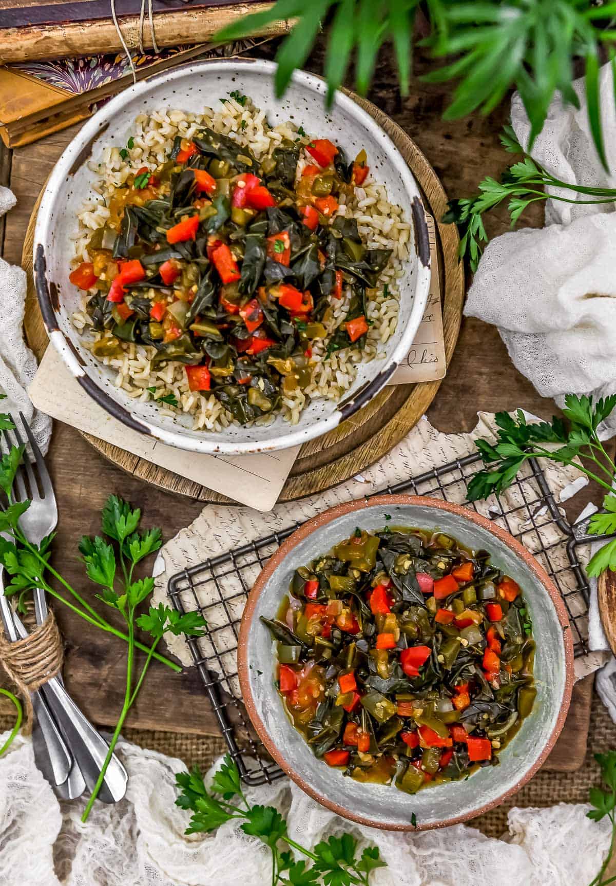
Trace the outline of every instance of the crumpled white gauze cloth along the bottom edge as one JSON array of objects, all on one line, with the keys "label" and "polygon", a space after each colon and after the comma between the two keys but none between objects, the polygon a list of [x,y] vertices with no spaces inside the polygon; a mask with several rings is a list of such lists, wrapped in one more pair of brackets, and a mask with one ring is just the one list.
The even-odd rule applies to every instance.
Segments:
[{"label": "crumpled white gauze cloth along the bottom edge", "polygon": [[[0,735],[0,744],[7,734]],[[269,850],[239,822],[213,834],[185,836],[189,814],[175,806],[180,760],[119,742],[129,773],[127,796],[95,804],[58,803],[35,767],[32,742],[19,736],[0,759],[0,884],[41,886],[269,886]],[[502,840],[475,828],[387,833],[339,819],[287,779],[246,789],[252,804],[275,805],[301,845],[353,833],[376,843],[387,866],[373,886],[582,886],[597,874],[610,828],[586,817],[589,806],[511,809]]]}]

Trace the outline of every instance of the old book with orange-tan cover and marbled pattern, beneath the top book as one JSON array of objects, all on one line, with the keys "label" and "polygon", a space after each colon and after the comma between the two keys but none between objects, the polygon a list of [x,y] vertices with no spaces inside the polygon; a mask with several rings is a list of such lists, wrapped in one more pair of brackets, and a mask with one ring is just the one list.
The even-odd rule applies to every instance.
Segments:
[{"label": "old book with orange-tan cover and marbled pattern, beneath the top book", "polygon": [[[237,55],[254,45],[254,40],[224,47],[201,43],[136,55],[133,63],[141,80],[192,58]],[[0,67],[0,137],[9,148],[35,142],[85,120],[105,98],[132,82],[128,59],[119,53]]]}]

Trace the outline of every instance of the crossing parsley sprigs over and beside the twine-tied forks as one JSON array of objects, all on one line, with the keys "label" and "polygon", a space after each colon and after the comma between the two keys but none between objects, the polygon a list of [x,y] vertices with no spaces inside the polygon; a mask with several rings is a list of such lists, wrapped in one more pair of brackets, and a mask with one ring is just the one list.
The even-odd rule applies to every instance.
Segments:
[{"label": "crossing parsley sprigs over and beside the twine-tied forks", "polygon": [[[0,394],[0,399],[4,399],[4,395]],[[0,413],[0,429],[12,428],[14,425],[11,416]],[[123,501],[117,495],[110,495],[105,502],[101,514],[102,534],[94,538],[84,535],[79,543],[79,551],[82,555],[82,562],[85,564],[86,574],[90,581],[98,587],[95,596],[106,606],[121,614],[126,622],[126,633],[118,630],[101,616],[90,602],[69,585],[66,579],[49,563],[53,534],[47,536],[40,545],[36,546],[29,542],[21,531],[19,517],[27,511],[31,502],[13,501],[12,485],[23,455],[24,447],[12,447],[0,458],[0,489],[7,499],[6,507],[0,509],[0,532],[5,532],[11,539],[0,536],[0,563],[4,566],[10,579],[4,587],[4,594],[7,596],[19,595],[19,604],[23,610],[24,595],[35,587],[43,587],[55,600],[62,602],[90,625],[94,625],[105,633],[112,633],[128,644],[124,702],[105,758],[105,764],[101,769],[95,789],[92,791],[90,801],[83,812],[82,820],[85,821],[90,815],[92,804],[94,804],[105,779],[105,772],[120,736],[121,727],[131,706],[135,703],[145,674],[152,663],[152,658],[157,658],[176,672],[182,670],[178,664],[161,656],[156,651],[163,634],[169,632],[201,636],[201,629],[206,625],[206,622],[197,612],[181,614],[165,606],[164,603],[160,603],[158,607],[151,606],[147,613],[137,615],[138,608],[152,594],[154,579],[149,576],[137,578],[135,575],[136,566],[145,557],[160,548],[162,536],[160,529],[156,527],[140,529],[140,509],[131,508],[127,501]],[[48,574],[58,581],[62,592],[51,586],[47,578]],[[144,633],[149,634],[147,644],[136,640],[136,626],[141,628]],[[144,651],[146,655],[140,672],[135,674],[138,649]],[[19,724],[17,728],[19,728]]]}]

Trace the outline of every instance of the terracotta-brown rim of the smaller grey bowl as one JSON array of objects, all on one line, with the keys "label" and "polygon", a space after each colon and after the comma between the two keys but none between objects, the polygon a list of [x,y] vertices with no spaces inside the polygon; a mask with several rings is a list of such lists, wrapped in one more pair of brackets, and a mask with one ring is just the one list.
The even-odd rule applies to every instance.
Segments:
[{"label": "terracotta-brown rim of the smaller grey bowl", "polygon": [[[550,734],[550,738],[548,742],[546,742],[545,747],[543,748],[539,757],[535,760],[534,765],[531,766],[526,773],[522,775],[519,781],[516,782],[510,789],[503,791],[503,794],[500,797],[496,797],[495,800],[492,800],[490,803],[480,805],[476,810],[464,814],[455,816],[454,818],[445,819],[442,821],[435,821],[428,824],[422,824],[421,822],[417,822],[417,826],[412,824],[396,824],[396,823],[387,823],[383,821],[375,821],[372,819],[364,818],[362,815],[358,815],[355,812],[351,812],[347,810],[345,807],[340,806],[337,803],[334,803],[328,797],[324,797],[319,794],[316,790],[312,789],[307,781],[305,781],[299,773],[295,772],[292,766],[285,760],[284,755],[278,750],[277,745],[272,741],[269,733],[267,732],[259,713],[256,710],[256,706],[254,704],[253,694],[250,688],[250,680],[248,679],[248,633],[253,626],[253,615],[254,608],[256,606],[256,602],[261,595],[261,592],[264,587],[266,587],[269,579],[271,578],[273,572],[277,569],[277,566],[283,562],[285,557],[292,551],[301,540],[311,535],[312,532],[315,532],[317,529],[322,528],[324,525],[331,523],[332,520],[335,520],[337,517],[340,517],[342,514],[347,514],[351,511],[360,511],[365,508],[372,508],[374,506],[383,506],[383,507],[394,507],[395,505],[421,505],[423,507],[433,508],[435,511],[445,510],[449,513],[453,513],[458,515],[459,517],[464,517],[464,519],[468,520],[470,523],[474,523],[475,525],[481,526],[483,529],[486,529],[487,532],[490,532],[492,535],[495,535],[496,538],[503,542],[511,551],[519,556],[519,558],[526,564],[526,567],[534,573],[534,577],[541,583],[542,587],[547,591],[548,595],[550,595],[551,602],[554,605],[554,608],[557,612],[558,621],[563,628],[563,644],[565,647],[565,689],[563,694],[563,701],[560,706],[560,711],[558,711],[558,719],[556,724]],[[548,573],[543,569],[542,565],[537,562],[537,560],[529,554],[526,548],[524,548],[519,541],[513,538],[509,532],[505,532],[501,529],[500,526],[495,525],[491,520],[488,520],[486,517],[481,517],[480,514],[475,513],[475,511],[469,510],[467,508],[463,508],[461,505],[452,504],[449,501],[439,501],[438,499],[428,498],[419,495],[375,495],[370,499],[359,499],[358,501],[347,501],[344,504],[336,505],[334,508],[328,509],[324,511],[324,513],[319,514],[317,517],[313,517],[308,520],[305,524],[301,525],[299,529],[295,530],[293,534],[283,542],[280,548],[277,549],[276,554],[272,555],[266,565],[261,570],[261,573],[258,579],[254,582],[253,589],[250,592],[248,597],[248,601],[246,602],[246,608],[244,610],[244,615],[242,616],[242,623],[239,629],[239,640],[238,640],[238,677],[239,677],[239,685],[242,690],[242,697],[244,703],[246,704],[246,711],[248,712],[248,716],[251,719],[253,727],[256,729],[257,734],[259,735],[261,742],[265,745],[269,754],[272,758],[274,758],[277,764],[285,771],[285,773],[294,781],[299,787],[305,791],[310,797],[313,797],[317,801],[317,803],[326,806],[331,812],[336,812],[337,815],[340,815],[342,818],[349,819],[351,821],[356,821],[358,824],[367,825],[370,828],[380,828],[381,830],[396,830],[396,831],[413,831],[413,830],[430,830],[432,828],[446,828],[449,825],[459,824],[462,821],[467,821],[469,819],[475,818],[477,815],[482,815],[484,812],[487,812],[489,809],[493,809],[495,806],[503,803],[507,797],[510,797],[511,794],[516,793],[526,781],[532,778],[534,773],[539,769],[540,766],[545,762],[546,758],[550,754],[550,750],[554,747],[556,740],[558,739],[558,735],[560,734],[561,729],[565,725],[565,718],[567,715],[567,711],[569,710],[569,704],[571,703],[571,693],[573,688],[573,640],[571,637],[571,629],[569,626],[569,618],[567,616],[565,610],[565,604],[562,600],[558,592],[558,588],[554,585]]]}]

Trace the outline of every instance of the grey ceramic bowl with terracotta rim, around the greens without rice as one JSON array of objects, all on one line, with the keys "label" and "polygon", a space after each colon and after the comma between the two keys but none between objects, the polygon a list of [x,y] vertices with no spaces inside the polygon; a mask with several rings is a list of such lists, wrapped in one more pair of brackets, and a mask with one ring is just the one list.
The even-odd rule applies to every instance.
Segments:
[{"label": "grey ceramic bowl with terracotta rim, around the greens without rice", "polygon": [[[261,615],[272,618],[289,588],[293,571],[326,553],[359,525],[416,526],[448,532],[464,546],[485,548],[491,561],[525,596],[533,620],[537,650],[534,679],[537,698],[519,732],[499,754],[500,766],[480,769],[468,781],[451,781],[410,796],[391,785],[361,784],[316,759],[286,717],[277,694],[275,660],[269,630]],[[253,726],[269,752],[300,788],[347,819],[375,828],[440,828],[480,815],[502,803],[541,766],[556,742],[571,700],[573,643],[565,607],[547,573],[518,541],[471,510],[444,501],[405,495],[381,495],[325,511],[302,525],[271,557],[250,595],[239,636],[239,680]]]}]

